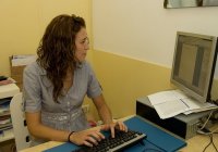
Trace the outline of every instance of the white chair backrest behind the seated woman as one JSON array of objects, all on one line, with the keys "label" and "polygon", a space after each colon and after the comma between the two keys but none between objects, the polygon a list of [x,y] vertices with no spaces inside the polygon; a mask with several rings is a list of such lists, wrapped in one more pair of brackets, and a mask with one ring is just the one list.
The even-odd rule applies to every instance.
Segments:
[{"label": "white chair backrest behind the seated woman", "polygon": [[26,126],[22,105],[22,92],[15,94],[12,98],[10,103],[10,112],[16,143],[16,151],[31,147],[29,132]]}]

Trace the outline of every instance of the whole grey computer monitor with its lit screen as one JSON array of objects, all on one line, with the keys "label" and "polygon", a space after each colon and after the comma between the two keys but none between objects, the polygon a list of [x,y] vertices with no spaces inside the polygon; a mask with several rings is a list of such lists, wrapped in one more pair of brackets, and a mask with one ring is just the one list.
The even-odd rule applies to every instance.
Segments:
[{"label": "whole grey computer monitor with its lit screen", "polygon": [[178,31],[171,83],[199,102],[210,100],[218,52],[217,37]]}]

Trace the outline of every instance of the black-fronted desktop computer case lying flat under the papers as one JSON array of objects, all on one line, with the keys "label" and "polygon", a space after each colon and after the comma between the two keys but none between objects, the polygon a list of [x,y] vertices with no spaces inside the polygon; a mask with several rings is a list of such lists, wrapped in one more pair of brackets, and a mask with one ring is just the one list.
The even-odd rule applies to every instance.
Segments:
[{"label": "black-fronted desktop computer case lying flat under the papers", "polygon": [[184,138],[190,139],[196,135],[198,124],[202,118],[208,116],[210,111],[194,113],[190,115],[180,114],[174,117],[161,119],[156,110],[150,104],[147,97],[136,100],[136,114],[149,122]]}]

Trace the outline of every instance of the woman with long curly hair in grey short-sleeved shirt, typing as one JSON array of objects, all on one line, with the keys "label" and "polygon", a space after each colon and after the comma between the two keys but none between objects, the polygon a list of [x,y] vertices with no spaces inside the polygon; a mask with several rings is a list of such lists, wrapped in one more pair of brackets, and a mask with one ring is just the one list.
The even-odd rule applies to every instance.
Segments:
[{"label": "woman with long curly hair in grey short-sleeved shirt, typing", "polygon": [[24,71],[23,99],[27,127],[37,142],[70,141],[93,147],[104,139],[99,127],[89,125],[82,111],[84,97],[92,98],[104,122],[101,129],[126,131],[113,123],[99,83],[85,61],[88,50],[85,21],[75,15],[55,17],[37,49],[38,59]]}]

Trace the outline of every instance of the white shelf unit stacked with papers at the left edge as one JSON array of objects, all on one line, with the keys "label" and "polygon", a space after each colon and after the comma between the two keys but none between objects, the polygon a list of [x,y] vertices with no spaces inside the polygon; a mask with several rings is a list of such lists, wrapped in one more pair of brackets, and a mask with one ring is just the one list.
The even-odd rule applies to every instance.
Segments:
[{"label": "white shelf unit stacked with papers at the left edge", "polygon": [[10,113],[10,101],[20,89],[15,84],[0,86],[0,142],[14,138]]}]

